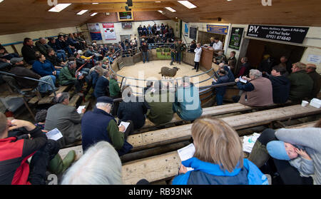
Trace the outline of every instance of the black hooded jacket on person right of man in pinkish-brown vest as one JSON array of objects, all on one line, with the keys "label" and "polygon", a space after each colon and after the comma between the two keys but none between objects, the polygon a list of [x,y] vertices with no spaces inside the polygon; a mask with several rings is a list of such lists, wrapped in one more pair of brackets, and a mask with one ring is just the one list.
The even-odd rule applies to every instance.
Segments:
[{"label": "black hooded jacket on person right of man in pinkish-brown vest", "polygon": [[285,76],[269,76],[274,103],[285,103],[289,98],[291,83]]}]

